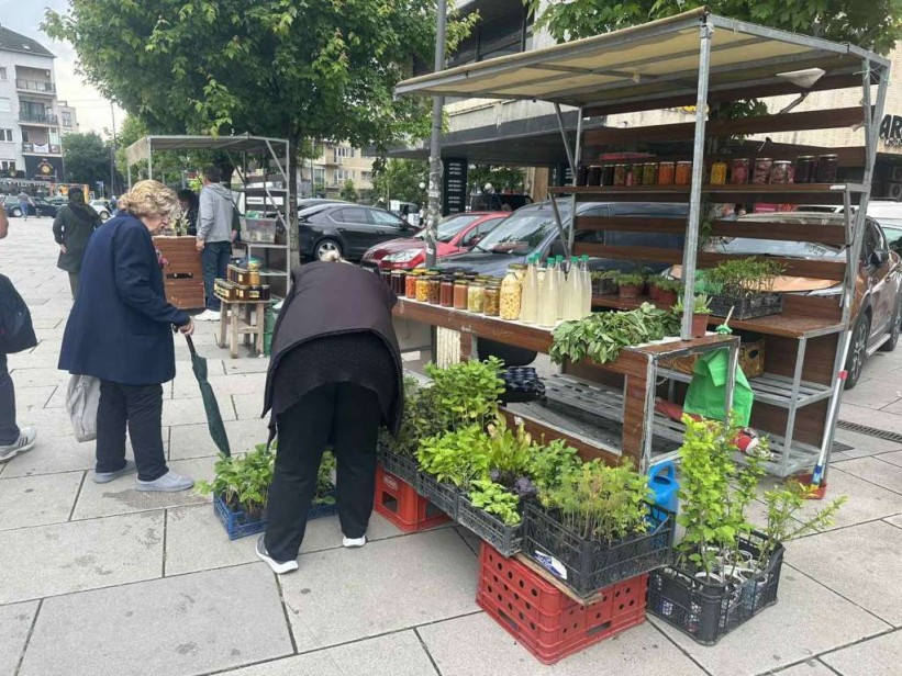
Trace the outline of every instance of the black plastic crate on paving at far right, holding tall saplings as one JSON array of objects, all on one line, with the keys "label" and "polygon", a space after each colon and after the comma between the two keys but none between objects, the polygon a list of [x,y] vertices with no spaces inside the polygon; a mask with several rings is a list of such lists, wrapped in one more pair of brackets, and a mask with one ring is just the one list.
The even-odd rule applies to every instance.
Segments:
[{"label": "black plastic crate on paving at far right, holding tall saplings", "polygon": [[[739,539],[739,549],[757,560],[761,533]],[[697,571],[664,568],[648,578],[648,611],[692,636],[714,645],[724,635],[777,602],[783,547],[771,554],[764,570],[742,584],[710,584]]]}]

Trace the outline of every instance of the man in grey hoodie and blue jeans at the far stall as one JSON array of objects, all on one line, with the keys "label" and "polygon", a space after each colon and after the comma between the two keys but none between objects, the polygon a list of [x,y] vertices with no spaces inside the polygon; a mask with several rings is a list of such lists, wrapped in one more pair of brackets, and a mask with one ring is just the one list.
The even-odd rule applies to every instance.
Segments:
[{"label": "man in grey hoodie and blue jeans at the far stall", "polygon": [[235,205],[232,191],[220,184],[222,171],[219,167],[208,167],[203,172],[203,188],[200,191],[198,207],[198,251],[201,252],[203,266],[203,293],[207,309],[196,318],[200,322],[218,322],[220,318],[220,300],[213,293],[216,279],[225,279],[229,259],[232,257],[232,229]]}]

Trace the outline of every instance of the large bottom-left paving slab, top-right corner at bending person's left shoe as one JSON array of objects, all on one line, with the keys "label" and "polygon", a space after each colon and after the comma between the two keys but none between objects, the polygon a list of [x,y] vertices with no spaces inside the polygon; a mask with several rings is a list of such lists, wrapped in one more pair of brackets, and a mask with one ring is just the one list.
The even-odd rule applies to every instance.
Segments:
[{"label": "large bottom-left paving slab, top-right corner at bending person's left shoe", "polygon": [[258,563],[46,599],[20,676],[187,676],[291,652]]}]

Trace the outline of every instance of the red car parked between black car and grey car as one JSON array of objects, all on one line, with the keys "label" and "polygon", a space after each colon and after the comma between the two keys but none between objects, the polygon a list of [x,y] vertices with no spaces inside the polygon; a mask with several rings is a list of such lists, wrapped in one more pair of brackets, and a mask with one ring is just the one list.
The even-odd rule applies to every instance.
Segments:
[{"label": "red car parked between black car and grey car", "polygon": [[[453,214],[438,224],[438,258],[472,249],[510,212],[467,212]],[[364,254],[360,264],[381,270],[412,270],[426,262],[424,233],[414,237],[390,239]]]}]

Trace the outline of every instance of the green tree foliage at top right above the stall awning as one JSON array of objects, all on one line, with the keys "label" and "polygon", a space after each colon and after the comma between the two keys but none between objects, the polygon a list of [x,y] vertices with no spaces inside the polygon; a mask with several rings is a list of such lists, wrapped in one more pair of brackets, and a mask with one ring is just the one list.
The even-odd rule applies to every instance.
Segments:
[{"label": "green tree foliage at top right above the stall awning", "polygon": [[[558,42],[672,16],[698,7],[715,14],[888,53],[902,38],[902,0],[525,0]],[[544,8],[544,9],[543,9]]]}]

